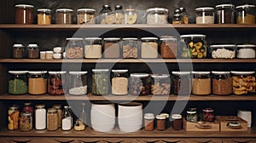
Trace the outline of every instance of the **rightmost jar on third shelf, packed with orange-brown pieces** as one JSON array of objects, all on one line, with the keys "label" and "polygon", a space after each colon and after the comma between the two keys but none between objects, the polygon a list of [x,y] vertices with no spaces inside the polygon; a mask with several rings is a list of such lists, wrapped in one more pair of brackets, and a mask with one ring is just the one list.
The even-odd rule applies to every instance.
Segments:
[{"label": "rightmost jar on third shelf, packed with orange-brown pieces", "polygon": [[231,71],[233,94],[255,94],[255,72]]}]

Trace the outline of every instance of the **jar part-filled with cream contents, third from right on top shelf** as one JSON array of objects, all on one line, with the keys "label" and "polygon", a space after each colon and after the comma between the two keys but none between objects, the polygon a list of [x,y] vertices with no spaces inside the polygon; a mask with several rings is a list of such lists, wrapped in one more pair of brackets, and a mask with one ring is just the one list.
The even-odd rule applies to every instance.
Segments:
[{"label": "jar part-filled with cream contents, third from right on top shelf", "polygon": [[214,8],[197,8],[195,11],[196,24],[214,24]]}]

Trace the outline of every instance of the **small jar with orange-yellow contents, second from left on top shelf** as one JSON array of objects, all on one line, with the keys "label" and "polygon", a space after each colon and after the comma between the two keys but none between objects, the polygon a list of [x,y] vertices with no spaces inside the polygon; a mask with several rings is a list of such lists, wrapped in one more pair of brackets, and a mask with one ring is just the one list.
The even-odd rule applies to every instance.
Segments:
[{"label": "small jar with orange-yellow contents, second from left on top shelf", "polygon": [[51,24],[51,10],[50,9],[38,9],[38,25],[50,25]]}]

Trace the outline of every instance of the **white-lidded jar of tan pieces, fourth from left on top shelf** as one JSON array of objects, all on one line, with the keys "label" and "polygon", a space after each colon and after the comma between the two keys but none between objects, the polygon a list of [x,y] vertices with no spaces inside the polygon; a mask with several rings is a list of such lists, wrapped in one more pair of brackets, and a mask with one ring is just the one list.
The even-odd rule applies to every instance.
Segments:
[{"label": "white-lidded jar of tan pieces, fourth from left on top shelf", "polygon": [[94,25],[96,24],[95,9],[78,9],[77,21],[78,25]]}]

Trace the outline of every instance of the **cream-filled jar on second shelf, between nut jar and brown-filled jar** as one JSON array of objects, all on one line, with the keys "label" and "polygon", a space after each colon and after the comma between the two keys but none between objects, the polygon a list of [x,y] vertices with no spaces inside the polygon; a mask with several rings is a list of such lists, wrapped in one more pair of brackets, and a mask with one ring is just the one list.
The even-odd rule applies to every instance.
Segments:
[{"label": "cream-filled jar on second shelf, between nut jar and brown-filled jar", "polygon": [[101,37],[86,37],[84,58],[99,59],[102,57],[102,38]]}]

